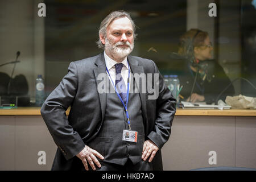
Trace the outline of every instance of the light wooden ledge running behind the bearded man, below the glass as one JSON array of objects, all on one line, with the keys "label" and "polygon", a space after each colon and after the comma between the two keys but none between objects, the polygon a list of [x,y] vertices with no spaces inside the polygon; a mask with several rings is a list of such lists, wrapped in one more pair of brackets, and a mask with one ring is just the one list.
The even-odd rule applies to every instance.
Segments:
[{"label": "light wooden ledge running behind the bearded man, below the glass", "polygon": [[[69,109],[66,111],[66,113],[69,113]],[[40,115],[40,107],[19,107],[18,109],[1,109],[0,115]],[[256,116],[256,110],[177,109],[175,115]]]}]

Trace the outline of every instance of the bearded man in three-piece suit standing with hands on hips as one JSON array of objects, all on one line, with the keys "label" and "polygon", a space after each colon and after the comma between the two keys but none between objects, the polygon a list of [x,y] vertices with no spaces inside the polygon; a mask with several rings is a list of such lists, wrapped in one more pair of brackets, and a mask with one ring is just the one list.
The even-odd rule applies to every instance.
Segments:
[{"label": "bearded man in three-piece suit standing with hands on hips", "polygon": [[[41,114],[58,146],[52,170],[163,169],[160,149],[171,134],[176,100],[154,61],[129,55],[134,39],[130,15],[110,13],[97,42],[104,52],[72,62],[44,102]],[[102,73],[114,93],[99,92]],[[135,73],[158,76],[157,84],[150,83],[158,87],[152,86],[159,90],[157,98],[150,97],[152,90],[143,93],[139,81],[130,85]]]}]

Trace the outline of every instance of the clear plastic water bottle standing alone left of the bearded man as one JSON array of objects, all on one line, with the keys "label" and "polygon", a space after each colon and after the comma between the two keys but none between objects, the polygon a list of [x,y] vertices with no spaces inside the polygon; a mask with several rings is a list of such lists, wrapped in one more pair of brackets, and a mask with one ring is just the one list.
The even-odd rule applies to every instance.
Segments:
[{"label": "clear plastic water bottle standing alone left of the bearded man", "polygon": [[36,106],[42,106],[44,103],[44,80],[42,75],[36,78]]}]

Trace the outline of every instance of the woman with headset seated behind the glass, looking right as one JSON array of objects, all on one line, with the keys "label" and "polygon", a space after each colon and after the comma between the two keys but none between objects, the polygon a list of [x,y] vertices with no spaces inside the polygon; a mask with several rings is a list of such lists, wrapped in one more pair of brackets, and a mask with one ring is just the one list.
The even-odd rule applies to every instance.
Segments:
[{"label": "woman with headset seated behind the glass, looking right", "polygon": [[[191,29],[180,37],[179,55],[185,60],[184,73],[179,76],[183,90],[180,94],[188,102],[217,104],[218,95],[230,84],[223,68],[212,59],[212,43],[207,32]],[[233,96],[234,87],[221,94],[218,99],[225,101]]]}]

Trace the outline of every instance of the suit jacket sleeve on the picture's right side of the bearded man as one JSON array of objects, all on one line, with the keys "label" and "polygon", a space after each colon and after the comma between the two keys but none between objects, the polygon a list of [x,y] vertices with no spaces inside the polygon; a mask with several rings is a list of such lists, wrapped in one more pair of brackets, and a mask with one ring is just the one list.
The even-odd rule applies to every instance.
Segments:
[{"label": "suit jacket sleeve on the picture's right side of the bearded man", "polygon": [[174,115],[176,113],[176,99],[164,84],[163,77],[155,63],[153,61],[152,63],[154,65],[155,73],[159,74],[159,96],[156,99],[155,127],[147,138],[154,142],[160,150],[171,135],[172,121],[174,120]]}]

